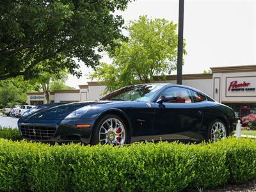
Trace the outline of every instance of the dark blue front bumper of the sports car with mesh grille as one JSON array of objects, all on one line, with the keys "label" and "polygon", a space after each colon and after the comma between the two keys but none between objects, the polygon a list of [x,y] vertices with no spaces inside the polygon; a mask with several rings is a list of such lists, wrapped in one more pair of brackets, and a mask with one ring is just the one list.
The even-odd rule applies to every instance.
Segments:
[{"label": "dark blue front bumper of the sports car with mesh grille", "polygon": [[[94,119],[25,120],[20,119],[20,134],[28,141],[44,143],[83,142],[90,143]],[[90,124],[90,127],[77,127]]]}]

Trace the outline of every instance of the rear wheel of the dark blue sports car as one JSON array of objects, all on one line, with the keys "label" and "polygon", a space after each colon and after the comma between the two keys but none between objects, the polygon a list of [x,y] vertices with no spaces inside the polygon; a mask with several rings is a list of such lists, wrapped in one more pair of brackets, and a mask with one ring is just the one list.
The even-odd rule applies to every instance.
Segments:
[{"label": "rear wheel of the dark blue sports car", "polygon": [[220,141],[227,136],[227,125],[220,119],[214,120],[208,129],[207,140]]}]

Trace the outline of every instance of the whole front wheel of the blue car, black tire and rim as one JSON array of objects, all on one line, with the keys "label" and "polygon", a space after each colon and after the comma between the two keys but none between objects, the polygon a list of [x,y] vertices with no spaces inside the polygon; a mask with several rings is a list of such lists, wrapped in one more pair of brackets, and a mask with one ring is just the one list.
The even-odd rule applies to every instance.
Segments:
[{"label": "whole front wheel of the blue car, black tire and rim", "polygon": [[120,116],[104,115],[96,122],[93,129],[90,142],[92,145],[124,145],[129,141],[127,125]]}]

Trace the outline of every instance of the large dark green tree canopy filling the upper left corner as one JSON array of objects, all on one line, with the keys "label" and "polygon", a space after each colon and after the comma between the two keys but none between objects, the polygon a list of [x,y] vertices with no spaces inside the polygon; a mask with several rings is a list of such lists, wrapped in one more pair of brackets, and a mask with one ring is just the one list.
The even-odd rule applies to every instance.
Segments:
[{"label": "large dark green tree canopy filling the upper left corner", "polygon": [[[68,68],[81,76],[74,58],[87,66],[99,64],[103,48],[113,50],[122,40],[124,20],[115,15],[130,0],[3,1],[0,6],[0,80],[58,74]],[[61,62],[60,62],[61,61]]]}]

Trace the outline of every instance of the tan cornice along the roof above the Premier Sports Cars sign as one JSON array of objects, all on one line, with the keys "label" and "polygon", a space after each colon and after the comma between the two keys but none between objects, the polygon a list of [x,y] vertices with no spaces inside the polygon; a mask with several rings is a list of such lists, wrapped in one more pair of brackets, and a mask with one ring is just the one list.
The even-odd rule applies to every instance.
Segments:
[{"label": "tan cornice along the roof above the Premier Sports Cars sign", "polygon": [[210,67],[212,73],[231,73],[231,72],[252,72],[256,71],[256,65],[237,65],[229,67]]}]

